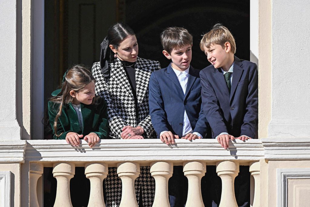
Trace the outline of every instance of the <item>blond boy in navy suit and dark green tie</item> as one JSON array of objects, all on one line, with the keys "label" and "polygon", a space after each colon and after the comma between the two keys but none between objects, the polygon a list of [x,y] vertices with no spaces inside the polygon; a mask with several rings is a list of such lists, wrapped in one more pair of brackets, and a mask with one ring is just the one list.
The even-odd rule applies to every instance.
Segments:
[{"label": "blond boy in navy suit and dark green tie", "polygon": [[[212,30],[203,35],[200,48],[211,63],[200,72],[200,77],[203,111],[210,124],[212,137],[225,149],[229,147],[229,140],[257,138],[257,65],[234,55],[235,39],[220,24],[214,25]],[[240,186],[237,179],[235,186],[239,206],[249,200],[249,196],[246,196],[249,195],[249,173],[242,176],[241,171],[237,177]]]}]

